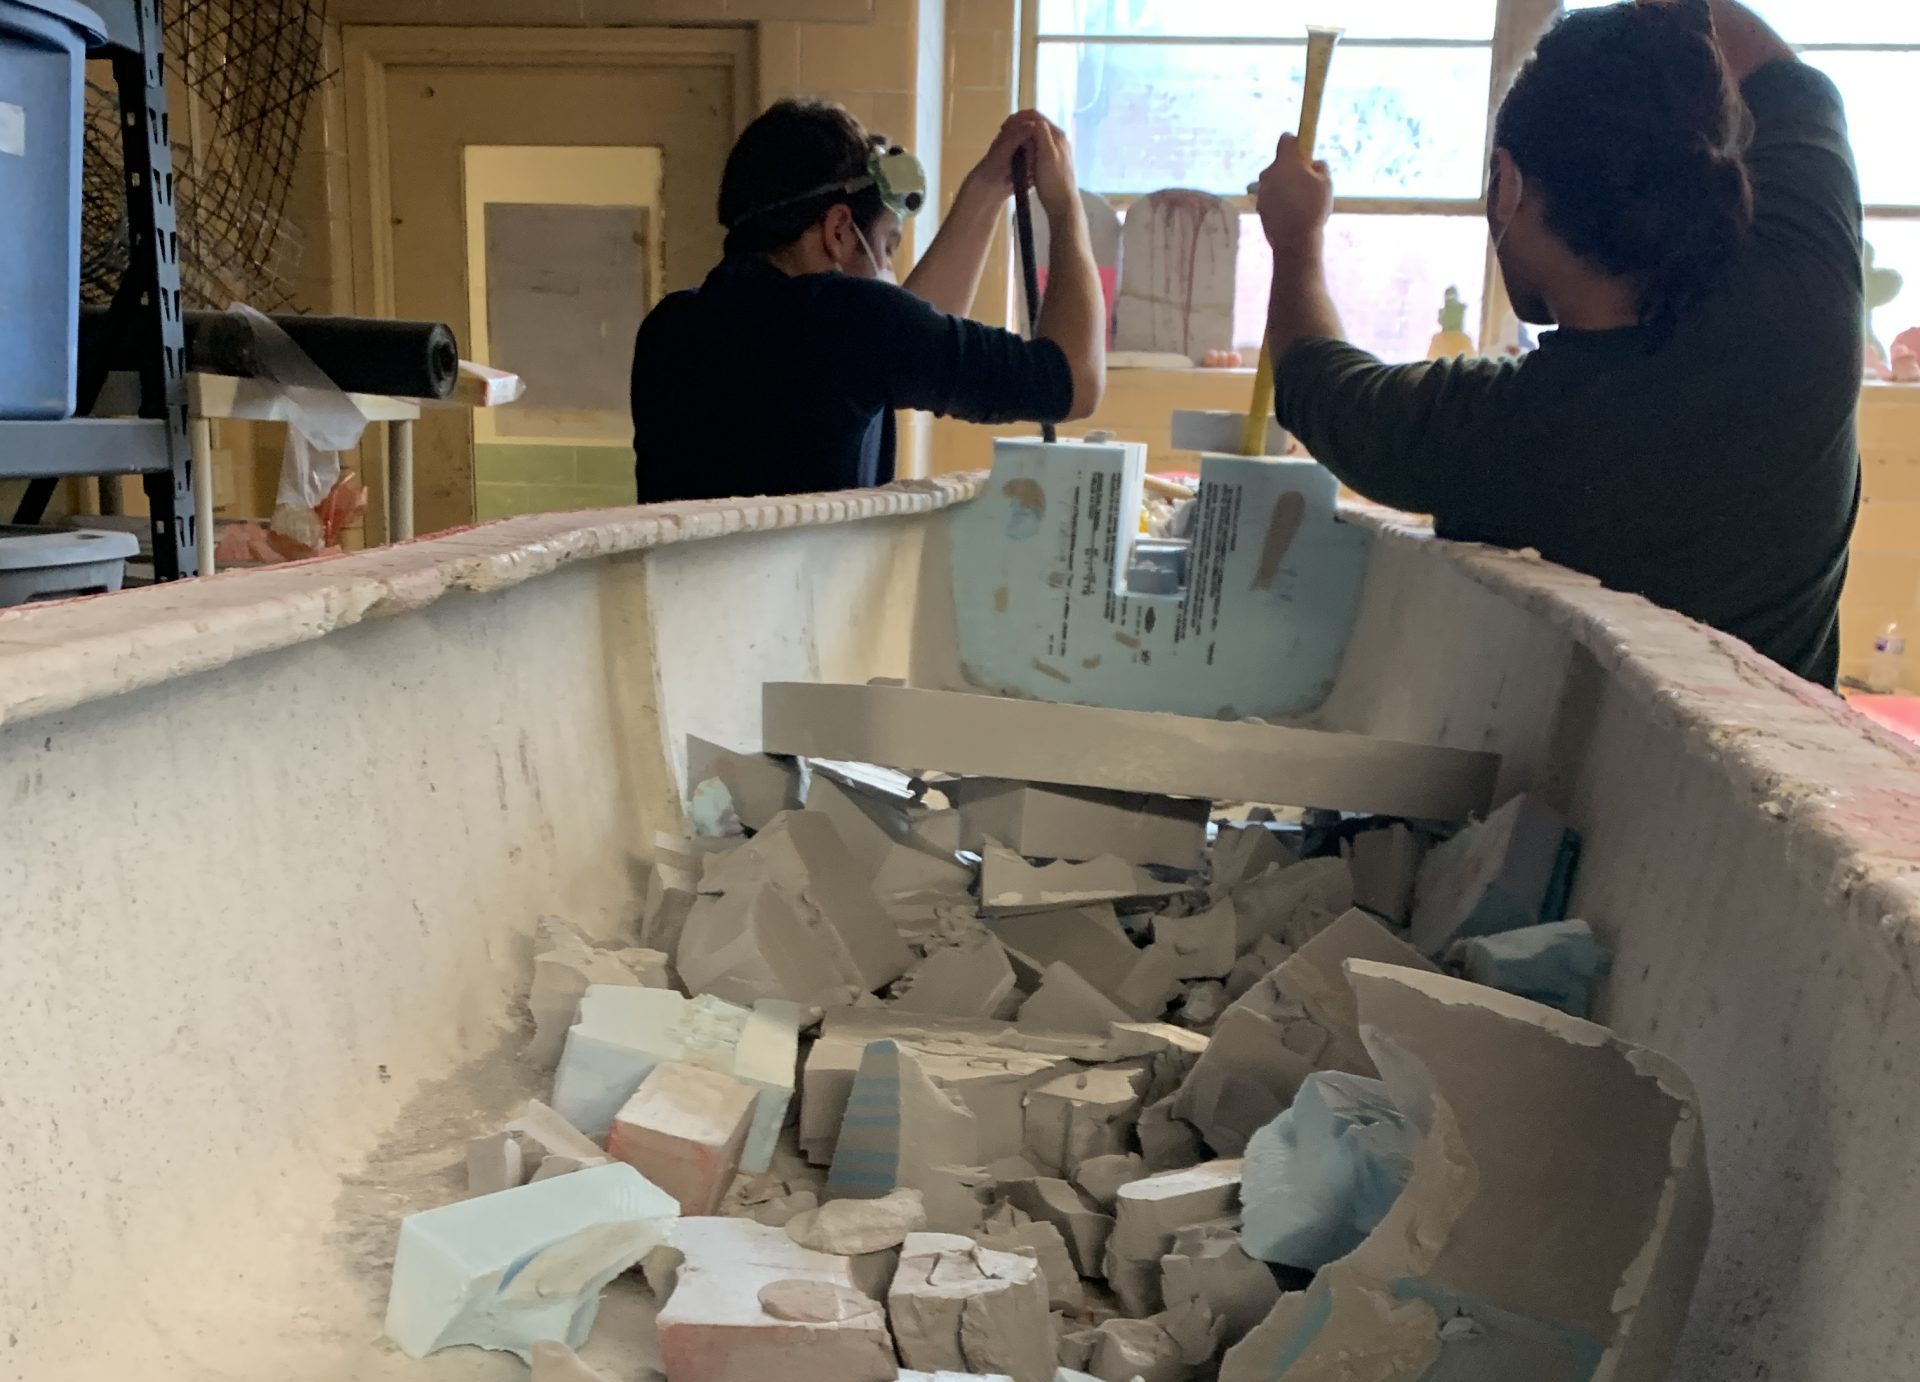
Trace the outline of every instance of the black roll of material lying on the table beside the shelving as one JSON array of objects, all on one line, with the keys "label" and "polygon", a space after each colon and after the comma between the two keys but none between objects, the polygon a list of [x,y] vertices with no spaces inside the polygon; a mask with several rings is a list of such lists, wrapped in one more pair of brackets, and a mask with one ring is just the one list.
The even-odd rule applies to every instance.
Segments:
[{"label": "black roll of material lying on the table beside the shelving", "polygon": [[[315,365],[348,393],[444,399],[459,378],[461,347],[445,322],[382,321],[378,317],[275,315]],[[81,309],[81,370],[111,349],[109,369],[134,370],[140,353],[131,336],[108,342],[108,309]],[[259,344],[253,324],[238,313],[186,313],[186,369],[255,378]]]}]

